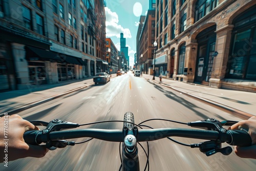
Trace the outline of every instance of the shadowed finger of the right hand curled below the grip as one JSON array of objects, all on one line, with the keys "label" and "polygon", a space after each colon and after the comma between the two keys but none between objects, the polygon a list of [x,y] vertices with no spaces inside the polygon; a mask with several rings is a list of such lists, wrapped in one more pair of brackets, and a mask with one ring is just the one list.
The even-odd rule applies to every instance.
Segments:
[{"label": "shadowed finger of the right hand curled below the grip", "polygon": [[251,146],[234,146],[234,153],[241,158],[256,159],[256,145]]}]

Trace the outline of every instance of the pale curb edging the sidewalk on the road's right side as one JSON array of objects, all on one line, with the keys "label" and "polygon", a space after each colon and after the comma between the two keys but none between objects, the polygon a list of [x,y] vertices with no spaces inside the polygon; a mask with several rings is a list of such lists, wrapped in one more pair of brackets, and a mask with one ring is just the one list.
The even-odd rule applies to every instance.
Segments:
[{"label": "pale curb edging the sidewalk on the road's right side", "polygon": [[[143,77],[143,78],[145,78],[145,77]],[[146,80],[151,80],[151,79],[148,79],[148,78],[145,78],[145,79],[146,79]],[[209,99],[206,99],[206,98],[203,98],[203,97],[198,97],[198,96],[189,94],[189,93],[187,93],[187,92],[183,92],[183,91],[178,90],[178,89],[176,89],[176,88],[174,88],[174,87],[172,87],[172,86],[167,86],[165,83],[157,82],[157,81],[154,81],[154,80],[151,80],[151,81],[153,81],[153,82],[155,82],[155,83],[158,83],[158,84],[160,83],[160,84],[161,84],[162,86],[164,86],[164,87],[170,88],[170,89],[175,90],[175,91],[177,91],[177,92],[179,92],[179,93],[182,93],[182,94],[184,94],[184,95],[186,95],[186,96],[189,96],[189,97],[194,98],[194,99],[196,99],[196,100],[200,100],[200,101],[202,101],[202,102],[205,102],[205,103],[207,103],[207,104],[210,104],[210,105],[214,106],[214,107],[217,108],[217,109],[220,109],[220,110],[222,110],[222,111],[224,111],[224,112],[227,112],[227,113],[229,113],[229,114],[232,114],[233,116],[239,117],[239,118],[241,118],[241,119],[247,120],[247,119],[249,119],[250,117],[254,116],[254,115],[248,114],[248,113],[246,113],[246,112],[240,111],[240,110],[238,110],[238,109],[232,108],[232,107],[230,107],[230,106],[227,106],[227,105],[225,105],[225,104],[221,104],[221,103],[218,103],[218,102],[216,102],[216,101],[212,101],[212,100],[209,100]]]}]

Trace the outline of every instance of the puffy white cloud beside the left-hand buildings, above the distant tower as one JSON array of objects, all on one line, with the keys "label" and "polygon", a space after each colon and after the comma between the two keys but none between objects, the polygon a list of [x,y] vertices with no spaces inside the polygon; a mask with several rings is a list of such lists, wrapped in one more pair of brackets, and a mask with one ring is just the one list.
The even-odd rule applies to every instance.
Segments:
[{"label": "puffy white cloud beside the left-hand buildings, above the distant tower", "polygon": [[119,19],[116,12],[112,12],[108,7],[105,7],[105,15],[106,37],[116,36],[117,38],[120,38],[120,33],[123,33],[123,37],[132,38],[130,29],[118,25]]}]

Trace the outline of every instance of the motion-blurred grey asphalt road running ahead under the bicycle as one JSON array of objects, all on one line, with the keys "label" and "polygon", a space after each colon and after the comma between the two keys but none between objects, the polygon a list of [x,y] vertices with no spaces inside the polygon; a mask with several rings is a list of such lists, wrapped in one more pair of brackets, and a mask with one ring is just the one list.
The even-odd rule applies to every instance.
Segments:
[{"label": "motion-blurred grey asphalt road running ahead under the bicycle", "polygon": [[[125,112],[132,112],[135,122],[146,119],[164,118],[181,122],[216,118],[241,120],[215,109],[196,99],[134,77],[131,73],[111,78],[107,84],[62,96],[18,113],[27,120],[50,121],[61,119],[75,123],[103,120],[123,120]],[[149,121],[146,124],[157,127],[184,127],[178,123]],[[83,128],[121,129],[122,123],[102,123]],[[185,126],[187,127],[187,126]],[[187,127],[189,128],[189,127]],[[40,127],[42,129],[42,127]],[[77,139],[76,142],[87,138]],[[199,143],[204,140],[174,137],[183,143]],[[206,157],[198,148],[176,144],[167,139],[150,142],[150,170],[255,170],[256,161],[241,159],[233,152],[229,156],[215,154]],[[146,143],[142,143],[146,148]],[[227,144],[223,145],[226,146]],[[146,156],[139,146],[140,168],[144,170]],[[26,158],[9,162],[1,170],[118,170],[120,167],[119,143],[93,139],[84,144],[68,146],[50,151],[44,158]]]}]

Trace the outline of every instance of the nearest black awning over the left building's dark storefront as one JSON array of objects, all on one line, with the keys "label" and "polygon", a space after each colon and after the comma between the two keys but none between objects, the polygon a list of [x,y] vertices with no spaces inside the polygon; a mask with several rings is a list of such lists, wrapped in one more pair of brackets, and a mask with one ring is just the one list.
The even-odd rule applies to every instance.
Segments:
[{"label": "nearest black awning over the left building's dark storefront", "polygon": [[34,48],[26,46],[26,58],[27,60],[49,60],[49,61],[61,61],[60,57],[45,49]]}]

